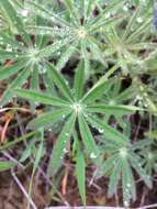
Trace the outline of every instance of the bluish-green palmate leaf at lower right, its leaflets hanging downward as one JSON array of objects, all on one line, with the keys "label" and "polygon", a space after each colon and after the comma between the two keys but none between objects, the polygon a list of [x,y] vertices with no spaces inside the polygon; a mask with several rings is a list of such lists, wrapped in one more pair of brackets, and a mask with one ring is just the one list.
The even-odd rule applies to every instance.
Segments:
[{"label": "bluish-green palmate leaf at lower right, its leaflets hanging downward", "polygon": [[136,199],[136,185],[133,169],[149,188],[152,187],[152,180],[142,167],[139,156],[135,154],[134,145],[132,147],[128,140],[125,141],[125,143],[123,141],[119,142],[116,138],[108,140],[105,139],[104,132],[104,144],[102,153],[104,151],[103,154],[108,157],[101,166],[98,177],[108,174],[110,178],[108,190],[109,197],[115,194],[120,179],[122,179],[123,202],[125,207],[128,207],[131,199]]}]

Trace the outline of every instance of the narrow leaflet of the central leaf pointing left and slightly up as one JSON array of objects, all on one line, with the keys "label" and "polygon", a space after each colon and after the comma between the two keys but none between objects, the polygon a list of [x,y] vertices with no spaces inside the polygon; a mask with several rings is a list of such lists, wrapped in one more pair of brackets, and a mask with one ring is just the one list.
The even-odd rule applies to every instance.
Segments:
[{"label": "narrow leaflet of the central leaf pointing left and slightly up", "polygon": [[66,100],[59,99],[57,97],[51,97],[47,95],[44,95],[42,92],[33,91],[33,90],[20,90],[15,89],[13,90],[19,97],[22,97],[23,99],[29,99],[32,101],[49,105],[49,106],[58,106],[58,107],[67,107],[70,103]]}]

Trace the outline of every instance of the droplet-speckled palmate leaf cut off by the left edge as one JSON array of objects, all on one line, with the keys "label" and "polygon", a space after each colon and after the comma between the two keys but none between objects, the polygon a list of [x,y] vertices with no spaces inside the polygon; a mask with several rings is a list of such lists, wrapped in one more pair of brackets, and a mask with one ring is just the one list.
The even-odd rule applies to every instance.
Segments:
[{"label": "droplet-speckled palmate leaf cut off by the left edge", "polygon": [[[14,38],[7,37],[5,40],[3,35],[2,40],[7,41],[5,43],[7,45],[11,44],[12,46],[12,43],[14,43],[13,45],[14,47],[11,48],[12,52],[7,52],[5,50],[4,54],[3,51],[1,51],[1,53],[3,54],[2,58],[4,58],[3,56],[5,56],[5,58],[9,58],[9,61],[11,61],[11,64],[8,66],[7,63],[5,65],[2,65],[0,67],[0,74],[1,74],[0,80],[8,79],[9,77],[20,72],[20,75],[18,75],[15,80],[13,80],[9,85],[8,89],[5,90],[5,92],[1,98],[1,105],[5,105],[14,96],[13,91],[11,92],[10,90],[13,90],[13,88],[20,88],[26,80],[30,79],[30,76],[31,76],[31,85],[30,85],[31,88],[34,90],[38,89],[38,82],[40,82],[38,74],[43,74],[40,72],[40,67],[46,68],[44,57],[41,57],[41,54],[38,53],[40,52],[43,53],[43,48],[46,48],[45,44],[47,44],[47,40],[45,41],[43,37],[41,38],[38,37],[40,45],[36,46],[26,45],[24,40],[20,41],[19,44],[16,44],[18,41],[15,41]],[[42,48],[40,48],[40,46],[42,46]]]}]

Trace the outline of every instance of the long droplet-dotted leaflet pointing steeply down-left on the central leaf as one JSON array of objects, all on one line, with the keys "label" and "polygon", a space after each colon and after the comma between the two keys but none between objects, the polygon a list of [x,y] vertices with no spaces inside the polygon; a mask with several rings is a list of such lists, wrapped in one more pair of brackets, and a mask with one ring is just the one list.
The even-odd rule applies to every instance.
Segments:
[{"label": "long droplet-dotted leaflet pointing steeply down-left on the central leaf", "polygon": [[69,119],[66,121],[58,139],[57,142],[54,146],[51,160],[49,160],[49,165],[48,165],[48,175],[53,176],[58,168],[61,166],[61,161],[65,155],[64,148],[67,146],[67,142],[70,140],[74,128],[75,128],[75,122],[76,122],[76,114],[71,114]]}]

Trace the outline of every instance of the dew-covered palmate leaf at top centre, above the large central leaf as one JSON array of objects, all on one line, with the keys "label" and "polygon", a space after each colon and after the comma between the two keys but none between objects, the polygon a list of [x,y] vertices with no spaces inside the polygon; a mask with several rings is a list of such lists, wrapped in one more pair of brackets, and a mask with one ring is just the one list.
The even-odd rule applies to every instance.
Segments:
[{"label": "dew-covered palmate leaf at top centre, above the large central leaf", "polygon": [[[92,14],[92,10],[94,10],[94,6],[97,4],[96,2],[92,2],[92,3],[91,1],[76,2],[76,1],[67,0],[67,1],[63,1],[61,3],[65,4],[65,10],[64,10],[63,15],[60,15],[60,13],[58,12],[55,13],[55,11],[53,10],[49,11],[48,9],[46,9],[46,6],[44,7],[44,3],[43,6],[34,3],[32,1],[26,1],[25,3],[25,9],[31,9],[31,11],[34,14],[37,14],[42,16],[43,19],[46,19],[46,20],[49,20],[49,22],[53,22],[52,30],[49,25],[45,26],[42,23],[40,24],[40,28],[38,25],[36,25],[36,31],[40,32],[40,29],[41,29],[42,30],[41,33],[44,33],[45,35],[46,33],[48,35],[54,34],[54,37],[58,37],[57,41],[56,38],[53,38],[53,44],[47,46],[47,50],[46,48],[43,50],[43,53],[41,52],[41,55],[44,56],[45,54],[45,56],[48,56],[48,55],[52,56],[55,51],[60,52],[63,51],[63,47],[67,48],[66,50],[67,53],[66,51],[65,53],[63,53],[64,57],[57,61],[57,69],[60,69],[64,67],[66,62],[74,54],[78,56],[77,52],[79,52],[81,57],[83,57],[85,59],[85,66],[86,66],[85,70],[88,78],[91,59],[98,59],[98,61],[101,61],[102,64],[104,63],[101,56],[102,54],[100,50],[101,43],[98,38],[97,38],[97,42],[94,42],[96,30],[100,30],[100,26],[98,26],[94,23],[104,19],[104,16],[106,15],[108,9],[106,9],[106,12],[104,12],[105,15],[100,15],[99,19],[94,18],[96,22],[92,22],[92,21],[90,22],[90,21],[86,21],[86,18],[89,18],[87,15]],[[117,9],[116,4],[117,2],[109,8],[110,9],[114,8],[116,10]],[[103,11],[100,13],[103,14]],[[82,15],[86,15],[83,22],[81,22]],[[109,23],[113,21],[113,19],[115,21],[117,16],[116,19],[113,16],[110,19],[106,18],[104,22],[103,21],[101,22],[101,24],[105,25],[106,22]],[[92,24],[94,25],[94,28],[97,26],[97,29],[90,31],[90,29],[92,29]],[[33,25],[33,31],[35,32],[34,25]],[[75,45],[74,50],[72,47],[69,48],[69,45]],[[92,56],[90,56],[90,51],[93,54]]]}]

